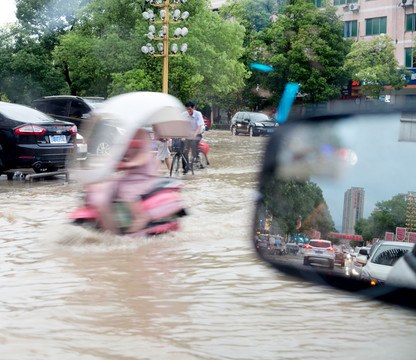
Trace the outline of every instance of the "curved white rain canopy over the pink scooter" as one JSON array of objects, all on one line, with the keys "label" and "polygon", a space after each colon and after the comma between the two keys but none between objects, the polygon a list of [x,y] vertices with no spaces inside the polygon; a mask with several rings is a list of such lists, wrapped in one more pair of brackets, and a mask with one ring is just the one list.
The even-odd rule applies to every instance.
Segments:
[{"label": "curved white rain canopy over the pink scooter", "polygon": [[80,133],[90,151],[104,140],[111,148],[104,154],[91,154],[82,168],[79,162],[73,162],[71,178],[88,183],[110,176],[138,129],[153,131],[158,138],[189,137],[191,128],[189,120],[183,116],[185,111],[177,98],[163,93],[133,92],[108,99],[83,121]]}]

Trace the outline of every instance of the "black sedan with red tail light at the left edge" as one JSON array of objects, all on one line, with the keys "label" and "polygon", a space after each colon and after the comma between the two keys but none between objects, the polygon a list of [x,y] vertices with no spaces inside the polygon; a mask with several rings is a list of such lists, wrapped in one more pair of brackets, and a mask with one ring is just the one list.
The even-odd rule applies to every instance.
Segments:
[{"label": "black sedan with red tail light at the left edge", "polygon": [[[0,175],[8,170],[55,171],[74,153],[77,126],[30,107],[0,102]],[[7,173],[8,179],[13,173]]]}]

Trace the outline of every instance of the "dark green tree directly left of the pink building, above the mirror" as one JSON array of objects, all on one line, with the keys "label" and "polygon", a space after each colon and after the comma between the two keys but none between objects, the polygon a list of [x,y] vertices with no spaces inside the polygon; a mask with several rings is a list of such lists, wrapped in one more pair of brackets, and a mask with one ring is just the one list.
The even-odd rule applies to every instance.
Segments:
[{"label": "dark green tree directly left of the pink building, above the mirror", "polygon": [[259,80],[280,98],[287,82],[297,82],[310,102],[338,98],[348,81],[343,69],[350,42],[342,37],[343,22],[333,6],[316,8],[294,0],[272,25],[250,44],[249,62],[274,67]]}]

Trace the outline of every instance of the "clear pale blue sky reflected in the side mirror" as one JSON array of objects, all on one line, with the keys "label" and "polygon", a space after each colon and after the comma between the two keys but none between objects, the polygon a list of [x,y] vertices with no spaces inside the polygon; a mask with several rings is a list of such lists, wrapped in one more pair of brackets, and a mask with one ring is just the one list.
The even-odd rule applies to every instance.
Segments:
[{"label": "clear pale blue sky reflected in the side mirror", "polygon": [[415,143],[398,141],[400,124],[397,113],[357,116],[333,128],[343,147],[353,150],[357,158],[354,165],[337,169],[336,180],[313,179],[323,190],[337,228],[342,224],[344,192],[351,187],[364,188],[364,218],[378,201],[416,191]]}]

